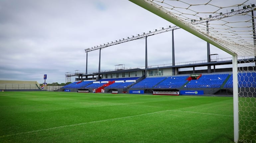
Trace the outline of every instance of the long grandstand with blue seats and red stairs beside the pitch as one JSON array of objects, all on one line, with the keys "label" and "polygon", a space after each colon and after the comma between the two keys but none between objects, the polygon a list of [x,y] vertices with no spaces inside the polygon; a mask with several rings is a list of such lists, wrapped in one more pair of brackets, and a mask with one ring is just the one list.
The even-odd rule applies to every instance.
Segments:
[{"label": "long grandstand with blue seats and red stairs beside the pitch", "polygon": [[[212,59],[209,60],[211,61]],[[229,65],[232,61],[219,60],[207,63],[194,63],[191,61],[184,62],[188,64],[179,63],[177,66],[148,66],[147,69],[122,68],[89,74],[66,74],[66,78],[71,78],[72,76],[79,76],[79,78],[76,78],[75,82],[62,87],[59,91],[164,95],[176,95],[176,93],[179,95],[232,95],[232,68],[215,68],[216,65]],[[248,60],[248,62],[251,61],[255,61],[254,57]],[[195,70],[198,67],[209,67],[210,69]],[[189,70],[182,70],[184,68]],[[241,66],[239,68],[248,69],[251,72],[238,74],[238,87],[246,84],[244,91],[249,90],[249,88],[256,88],[255,67]],[[248,84],[248,81],[250,84]],[[248,95],[251,95],[251,93],[248,92]]]}]

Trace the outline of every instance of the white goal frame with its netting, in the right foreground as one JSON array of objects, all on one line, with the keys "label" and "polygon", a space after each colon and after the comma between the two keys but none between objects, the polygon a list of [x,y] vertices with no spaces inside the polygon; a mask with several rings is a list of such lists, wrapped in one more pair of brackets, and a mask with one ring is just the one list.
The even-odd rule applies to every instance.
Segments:
[{"label": "white goal frame with its netting, in the right foreground", "polygon": [[256,142],[255,1],[129,1],[232,55],[234,142]]}]

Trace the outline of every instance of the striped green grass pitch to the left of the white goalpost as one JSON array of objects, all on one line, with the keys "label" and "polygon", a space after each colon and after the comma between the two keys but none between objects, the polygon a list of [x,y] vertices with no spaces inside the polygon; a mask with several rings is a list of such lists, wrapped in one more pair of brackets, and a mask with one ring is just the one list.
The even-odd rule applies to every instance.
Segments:
[{"label": "striped green grass pitch to the left of the white goalpost", "polygon": [[232,143],[233,98],[0,92],[1,143]]}]

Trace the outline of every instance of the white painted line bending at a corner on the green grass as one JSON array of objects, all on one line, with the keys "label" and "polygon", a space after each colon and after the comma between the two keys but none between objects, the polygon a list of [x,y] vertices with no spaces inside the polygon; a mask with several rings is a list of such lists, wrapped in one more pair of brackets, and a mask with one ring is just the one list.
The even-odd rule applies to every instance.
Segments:
[{"label": "white painted line bending at a corner on the green grass", "polygon": [[70,127],[70,126],[85,125],[85,124],[92,124],[92,123],[105,122],[105,121],[112,121],[112,120],[125,119],[125,118],[131,118],[131,117],[138,117],[138,116],[149,115],[149,114],[155,114],[155,113],[160,113],[160,112],[167,112],[167,111],[176,111],[176,112],[187,112],[187,113],[197,113],[197,114],[207,114],[207,115],[216,115],[216,116],[229,116],[229,117],[233,117],[233,116],[231,116],[231,115],[210,114],[210,113],[200,113],[200,112],[190,112],[190,111],[179,111],[179,110],[164,110],[164,111],[158,111],[158,112],[152,112],[152,113],[146,113],[146,114],[140,114],[140,115],[134,115],[134,116],[127,116],[127,117],[120,117],[120,118],[114,118],[114,119],[107,119],[107,120],[100,120],[100,121],[79,123],[79,124],[73,124],[73,125],[64,125],[64,126],[58,126],[58,127],[52,127],[52,128],[46,128],[46,129],[32,130],[32,131],[28,131],[28,132],[14,133],[14,134],[9,134],[9,135],[0,136],[0,138],[8,137],[8,136],[14,136],[14,135],[20,135],[20,134],[28,134],[28,133],[40,132],[40,131],[48,131],[48,130],[52,130],[52,129],[58,129],[58,128],[64,128],[64,127]]}]

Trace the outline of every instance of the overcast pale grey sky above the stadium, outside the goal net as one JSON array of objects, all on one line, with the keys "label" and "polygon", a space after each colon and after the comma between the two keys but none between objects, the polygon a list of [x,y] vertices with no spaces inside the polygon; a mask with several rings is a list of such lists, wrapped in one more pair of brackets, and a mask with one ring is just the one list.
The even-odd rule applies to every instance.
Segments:
[{"label": "overcast pale grey sky above the stadium, outside the goal net", "polygon": [[[174,24],[128,0],[1,0],[0,80],[65,83],[65,72],[85,72],[84,49]],[[174,31],[175,62],[206,60],[206,42]],[[148,37],[148,65],[172,63],[172,32]],[[211,54],[231,57],[211,46]],[[99,50],[88,53],[97,72]],[[101,50],[101,70],[145,66],[145,39]],[[74,81],[72,77],[71,81]]]}]

